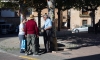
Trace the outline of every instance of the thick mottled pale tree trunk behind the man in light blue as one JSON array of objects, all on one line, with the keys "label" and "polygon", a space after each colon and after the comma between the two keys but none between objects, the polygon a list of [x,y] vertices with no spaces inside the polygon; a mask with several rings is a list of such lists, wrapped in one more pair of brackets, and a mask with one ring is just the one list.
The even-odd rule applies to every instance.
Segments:
[{"label": "thick mottled pale tree trunk behind the man in light blue", "polygon": [[56,26],[55,26],[55,0],[47,0],[48,4],[48,15],[52,20],[52,39],[54,44],[54,50],[57,51],[57,38],[56,38]]}]

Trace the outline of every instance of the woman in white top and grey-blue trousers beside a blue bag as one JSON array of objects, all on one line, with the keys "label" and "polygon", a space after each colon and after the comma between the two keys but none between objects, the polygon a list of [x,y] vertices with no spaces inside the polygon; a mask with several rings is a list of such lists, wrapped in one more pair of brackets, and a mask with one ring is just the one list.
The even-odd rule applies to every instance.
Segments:
[{"label": "woman in white top and grey-blue trousers beside a blue bag", "polygon": [[25,39],[25,32],[24,32],[24,26],[25,26],[25,22],[26,22],[26,19],[23,19],[19,25],[19,40],[20,40],[20,53],[24,53],[24,50],[21,49],[21,42],[22,40]]}]

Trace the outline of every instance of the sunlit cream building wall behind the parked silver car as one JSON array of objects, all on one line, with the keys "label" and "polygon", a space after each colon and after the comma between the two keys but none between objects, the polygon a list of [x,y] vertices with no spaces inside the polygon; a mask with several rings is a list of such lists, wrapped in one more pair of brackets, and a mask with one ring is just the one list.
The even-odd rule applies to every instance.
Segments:
[{"label": "sunlit cream building wall behind the parked silver car", "polygon": [[[91,25],[91,17],[80,17],[80,11],[71,9],[71,15],[70,15],[70,28],[73,29],[78,26],[82,26],[82,20],[87,20],[87,24]],[[95,23],[98,22],[100,19],[100,7],[98,10],[95,12]]]}]

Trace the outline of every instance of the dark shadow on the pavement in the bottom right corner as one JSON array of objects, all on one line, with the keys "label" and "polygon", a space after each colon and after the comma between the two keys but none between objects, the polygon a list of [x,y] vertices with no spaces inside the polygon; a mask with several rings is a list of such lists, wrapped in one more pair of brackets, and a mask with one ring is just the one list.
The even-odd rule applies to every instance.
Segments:
[{"label": "dark shadow on the pavement in the bottom right corner", "polygon": [[77,57],[72,59],[64,59],[64,60],[100,60],[100,54],[85,56],[85,57]]}]

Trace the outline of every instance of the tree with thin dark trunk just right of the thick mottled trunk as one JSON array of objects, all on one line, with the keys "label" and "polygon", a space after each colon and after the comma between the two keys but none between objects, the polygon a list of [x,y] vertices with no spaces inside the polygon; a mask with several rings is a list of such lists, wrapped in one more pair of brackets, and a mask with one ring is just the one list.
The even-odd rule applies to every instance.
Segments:
[{"label": "tree with thin dark trunk just right of the thick mottled trunk", "polygon": [[60,12],[68,10],[74,6],[73,0],[56,0],[56,8],[58,9],[58,31],[60,31]]}]

